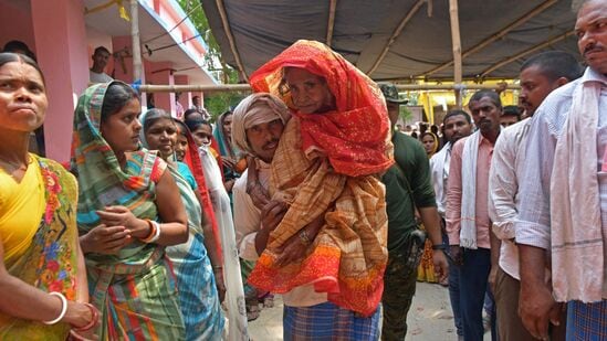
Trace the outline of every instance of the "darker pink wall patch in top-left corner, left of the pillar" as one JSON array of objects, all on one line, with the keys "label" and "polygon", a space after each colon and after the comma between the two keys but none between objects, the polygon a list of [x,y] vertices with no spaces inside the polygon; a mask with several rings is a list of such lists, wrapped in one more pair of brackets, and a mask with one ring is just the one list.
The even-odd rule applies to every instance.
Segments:
[{"label": "darker pink wall patch in top-left corner, left of the pillar", "polygon": [[25,4],[0,0],[0,50],[11,40],[20,40],[35,53],[32,17]]}]

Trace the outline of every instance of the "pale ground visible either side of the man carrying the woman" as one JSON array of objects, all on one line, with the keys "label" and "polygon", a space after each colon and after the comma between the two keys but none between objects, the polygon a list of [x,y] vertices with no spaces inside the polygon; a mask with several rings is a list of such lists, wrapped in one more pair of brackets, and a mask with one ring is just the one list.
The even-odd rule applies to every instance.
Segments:
[{"label": "pale ground visible either side of the man carrying the woman", "polygon": [[[259,319],[249,322],[249,333],[253,341],[282,340],[283,305],[279,296],[274,305],[274,308],[263,309]],[[458,340],[447,288],[418,283],[408,324],[407,341]],[[485,333],[484,339],[491,340],[489,333]]]}]

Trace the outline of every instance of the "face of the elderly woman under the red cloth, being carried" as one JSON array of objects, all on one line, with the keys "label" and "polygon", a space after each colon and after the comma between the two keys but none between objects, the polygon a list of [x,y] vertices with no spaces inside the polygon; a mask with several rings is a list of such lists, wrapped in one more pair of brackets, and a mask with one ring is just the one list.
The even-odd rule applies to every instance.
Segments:
[{"label": "face of the elderly woman under the red cloth, being carried", "polygon": [[287,67],[284,81],[300,113],[322,114],[335,108],[335,98],[323,77],[303,68]]}]

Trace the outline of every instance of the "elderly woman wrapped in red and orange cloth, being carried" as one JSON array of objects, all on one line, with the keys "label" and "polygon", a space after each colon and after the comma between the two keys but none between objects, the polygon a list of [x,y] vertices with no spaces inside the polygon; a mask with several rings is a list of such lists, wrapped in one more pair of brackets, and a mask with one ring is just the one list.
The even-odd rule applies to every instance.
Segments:
[{"label": "elderly woman wrapped in red and orange cloth, being carried", "polygon": [[381,92],[313,41],[268,62],[251,75],[251,86],[282,96],[293,118],[272,160],[270,187],[272,200],[287,210],[273,231],[261,230],[268,244],[249,283],[273,292],[313,285],[339,309],[377,317],[388,257],[378,174],[394,162]]}]

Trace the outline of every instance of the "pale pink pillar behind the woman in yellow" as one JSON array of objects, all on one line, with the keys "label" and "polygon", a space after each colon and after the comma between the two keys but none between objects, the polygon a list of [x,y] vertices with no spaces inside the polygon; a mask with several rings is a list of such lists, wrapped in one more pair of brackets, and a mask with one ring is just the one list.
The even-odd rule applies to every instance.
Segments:
[{"label": "pale pink pillar behind the woman in yellow", "polygon": [[31,11],[38,61],[49,96],[46,156],[67,161],[75,100],[88,84],[84,7],[81,0],[31,0]]}]

